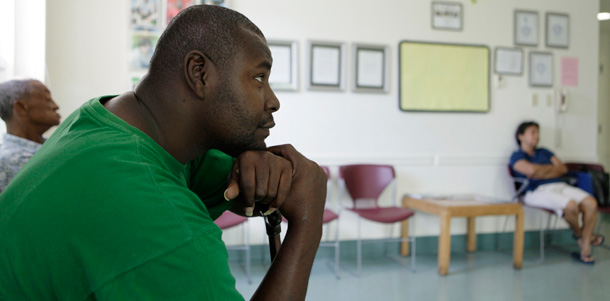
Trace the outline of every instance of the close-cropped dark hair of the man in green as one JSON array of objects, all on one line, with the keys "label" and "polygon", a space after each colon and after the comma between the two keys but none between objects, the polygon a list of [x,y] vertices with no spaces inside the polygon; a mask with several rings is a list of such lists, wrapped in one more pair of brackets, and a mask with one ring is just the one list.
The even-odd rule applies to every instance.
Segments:
[{"label": "close-cropped dark hair of the man in green", "polygon": [[189,51],[204,53],[222,70],[232,68],[243,47],[243,30],[263,37],[244,15],[220,6],[195,5],[178,14],[167,26],[150,62],[150,75],[164,78],[180,72]]}]

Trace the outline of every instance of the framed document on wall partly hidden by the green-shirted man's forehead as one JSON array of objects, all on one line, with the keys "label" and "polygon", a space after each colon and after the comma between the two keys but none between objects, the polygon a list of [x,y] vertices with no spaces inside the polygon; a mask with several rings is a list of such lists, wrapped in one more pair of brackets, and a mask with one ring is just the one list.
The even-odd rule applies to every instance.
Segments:
[{"label": "framed document on wall partly hidden by the green-shirted man's forehead", "polygon": [[268,40],[273,57],[269,85],[274,91],[297,91],[298,47],[296,41]]}]

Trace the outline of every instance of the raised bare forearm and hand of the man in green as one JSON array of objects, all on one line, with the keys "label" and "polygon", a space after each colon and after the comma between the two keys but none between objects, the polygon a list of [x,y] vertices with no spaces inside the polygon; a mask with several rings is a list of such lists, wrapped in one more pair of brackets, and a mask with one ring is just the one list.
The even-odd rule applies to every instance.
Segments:
[{"label": "raised bare forearm and hand of the man in green", "polygon": [[291,145],[268,150],[292,165],[290,191],[281,205],[288,231],[252,300],[305,300],[311,266],[322,237],[327,177],[318,164]]}]

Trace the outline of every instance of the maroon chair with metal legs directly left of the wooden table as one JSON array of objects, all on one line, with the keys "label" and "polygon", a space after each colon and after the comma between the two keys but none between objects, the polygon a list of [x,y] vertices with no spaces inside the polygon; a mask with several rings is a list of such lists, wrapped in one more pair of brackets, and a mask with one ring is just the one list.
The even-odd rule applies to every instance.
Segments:
[{"label": "maroon chair with metal legs directly left of the wooden table", "polygon": [[[391,165],[356,164],[339,167],[339,176],[343,179],[345,190],[352,199],[348,210],[358,215],[358,273],[362,270],[362,240],[361,222],[366,219],[383,224],[406,222],[413,216],[413,211],[396,206],[396,175]],[[381,193],[392,185],[392,206],[380,207],[378,204]],[[390,233],[391,236],[391,233]],[[415,270],[415,237],[402,239],[385,239],[388,241],[411,241],[411,269]]]}]

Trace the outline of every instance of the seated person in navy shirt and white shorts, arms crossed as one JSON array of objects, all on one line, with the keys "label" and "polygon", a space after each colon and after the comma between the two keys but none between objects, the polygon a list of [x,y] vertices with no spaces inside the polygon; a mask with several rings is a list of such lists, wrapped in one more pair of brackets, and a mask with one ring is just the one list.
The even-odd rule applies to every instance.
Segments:
[{"label": "seated person in navy shirt and white shorts, arms crossed", "polygon": [[[538,123],[523,122],[517,128],[515,138],[519,149],[510,158],[515,176],[528,178],[525,204],[553,210],[563,216],[578,239],[580,253],[573,256],[582,263],[593,264],[591,246],[600,246],[604,237],[593,234],[597,222],[597,200],[586,191],[564,183],[560,177],[567,167],[548,149],[538,148]],[[582,226],[579,215],[583,214]]]}]

